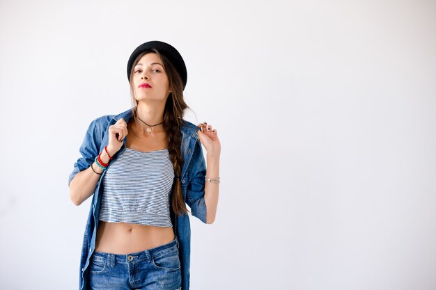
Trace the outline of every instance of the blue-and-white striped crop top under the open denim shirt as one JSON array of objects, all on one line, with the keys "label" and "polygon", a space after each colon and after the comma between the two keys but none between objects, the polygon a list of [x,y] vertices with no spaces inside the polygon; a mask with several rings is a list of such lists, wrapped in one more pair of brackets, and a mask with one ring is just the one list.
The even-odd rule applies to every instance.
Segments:
[{"label": "blue-and-white striped crop top under the open denim shirt", "polygon": [[173,181],[168,149],[140,152],[125,148],[102,178],[99,220],[171,227]]}]

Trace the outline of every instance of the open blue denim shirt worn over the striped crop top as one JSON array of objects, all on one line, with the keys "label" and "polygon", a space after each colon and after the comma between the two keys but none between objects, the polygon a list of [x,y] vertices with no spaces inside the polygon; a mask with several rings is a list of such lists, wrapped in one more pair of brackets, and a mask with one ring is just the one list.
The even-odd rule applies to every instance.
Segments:
[{"label": "open blue denim shirt worn over the striped crop top", "polygon": [[[81,170],[85,170],[94,162],[95,156],[104,150],[104,146],[109,143],[109,126],[115,124],[120,118],[129,122],[132,118],[132,109],[120,113],[119,115],[104,115],[91,122],[86,131],[86,136],[80,147],[81,157],[77,159],[69,179],[68,185],[75,175]],[[192,216],[196,216],[203,223],[206,223],[206,204],[204,201],[204,186],[206,166],[203,150],[198,139],[198,127],[191,122],[183,120],[181,127],[182,145],[181,152],[183,158],[180,182],[182,184],[183,199],[191,209]],[[121,149],[113,156],[113,161],[125,150],[125,141]],[[110,163],[109,163],[109,166]],[[106,172],[106,171],[104,171]],[[98,218],[100,214],[100,201],[102,190],[100,184],[103,174],[95,188],[91,208],[86,222],[84,241],[81,248],[79,289],[91,289],[89,285],[89,261],[95,250],[95,239],[97,236]],[[189,289],[189,256],[191,252],[191,227],[189,216],[183,214],[176,216],[171,210],[171,221],[176,236],[179,239],[179,257],[182,268],[182,289]]]}]

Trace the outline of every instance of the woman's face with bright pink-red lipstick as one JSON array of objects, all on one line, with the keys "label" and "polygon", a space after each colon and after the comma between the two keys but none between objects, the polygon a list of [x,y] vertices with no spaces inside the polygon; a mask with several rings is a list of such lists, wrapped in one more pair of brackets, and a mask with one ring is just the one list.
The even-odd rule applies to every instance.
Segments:
[{"label": "woman's face with bright pink-red lipstick", "polygon": [[171,92],[162,60],[154,52],[142,56],[134,66],[132,83],[135,98],[139,102],[166,102]]}]

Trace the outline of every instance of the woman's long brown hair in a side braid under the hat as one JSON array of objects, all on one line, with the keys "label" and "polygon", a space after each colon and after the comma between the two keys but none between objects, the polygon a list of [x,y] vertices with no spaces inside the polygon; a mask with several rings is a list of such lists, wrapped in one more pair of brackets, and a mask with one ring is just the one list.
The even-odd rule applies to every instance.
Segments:
[{"label": "woman's long brown hair in a side braid under the hat", "polygon": [[132,71],[130,72],[130,95],[132,96],[132,117],[134,121],[138,120],[138,101],[134,96],[133,88],[133,76],[134,67],[137,65],[139,60],[145,54],[154,52],[162,60],[162,65],[169,80],[169,87],[172,92],[170,92],[168,98],[166,99],[166,104],[164,108],[164,130],[166,133],[166,144],[168,145],[169,155],[171,161],[173,161],[174,174],[176,178],[173,182],[172,194],[171,194],[171,204],[173,211],[182,216],[182,212],[187,214],[188,210],[185,206],[185,201],[183,200],[182,184],[180,184],[181,172],[182,172],[182,152],[180,146],[182,145],[182,132],[180,131],[182,127],[182,120],[185,109],[189,108],[183,99],[183,83],[182,78],[178,74],[176,68],[164,55],[159,54],[157,49],[150,49],[149,51],[144,51],[141,55],[135,59],[132,65]]}]

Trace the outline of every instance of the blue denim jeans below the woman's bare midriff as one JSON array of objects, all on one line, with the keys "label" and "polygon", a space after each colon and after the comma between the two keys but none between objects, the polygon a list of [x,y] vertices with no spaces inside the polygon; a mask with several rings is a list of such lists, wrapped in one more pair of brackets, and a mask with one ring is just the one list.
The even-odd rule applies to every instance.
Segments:
[{"label": "blue denim jeans below the woman's bare midriff", "polygon": [[127,255],[93,252],[91,289],[182,289],[178,238],[165,245]]}]

